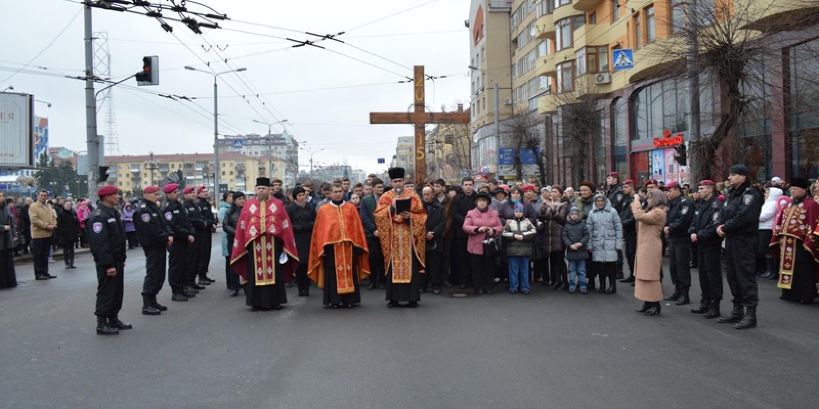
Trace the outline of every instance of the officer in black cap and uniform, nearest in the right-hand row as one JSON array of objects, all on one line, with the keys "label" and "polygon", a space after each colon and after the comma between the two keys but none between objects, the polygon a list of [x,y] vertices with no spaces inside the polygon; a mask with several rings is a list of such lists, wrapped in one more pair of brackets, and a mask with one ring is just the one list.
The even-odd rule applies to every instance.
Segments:
[{"label": "officer in black cap and uniform, nearest in the right-hand row", "polygon": [[748,168],[735,164],[728,170],[731,190],[717,218],[717,234],[725,237],[725,273],[734,296],[734,308],[719,322],[736,323],[737,330],[757,326],[756,258],[762,192],[751,184]]}]

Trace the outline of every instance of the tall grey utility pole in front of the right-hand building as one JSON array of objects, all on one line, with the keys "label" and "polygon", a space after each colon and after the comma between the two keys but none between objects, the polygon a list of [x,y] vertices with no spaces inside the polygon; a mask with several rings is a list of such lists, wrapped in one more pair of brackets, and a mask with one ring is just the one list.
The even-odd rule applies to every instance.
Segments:
[{"label": "tall grey utility pole in front of the right-hand building", "polygon": [[[697,30],[699,29],[699,12],[697,10],[697,0],[689,0],[688,2],[688,35],[686,36],[686,75],[688,77],[688,98],[689,108],[691,110],[690,126],[689,126],[689,142],[690,146],[699,149],[700,124],[699,124],[699,68],[697,61],[699,59],[699,42]],[[673,23],[672,23],[673,24]],[[694,154],[695,150],[690,150]],[[697,163],[697,160],[704,158],[700,155],[691,155],[689,162],[689,174],[695,178],[704,178],[704,175],[699,173],[699,169],[704,169],[703,164]],[[698,169],[699,168],[699,169]],[[708,168],[705,168],[708,169]]]}]

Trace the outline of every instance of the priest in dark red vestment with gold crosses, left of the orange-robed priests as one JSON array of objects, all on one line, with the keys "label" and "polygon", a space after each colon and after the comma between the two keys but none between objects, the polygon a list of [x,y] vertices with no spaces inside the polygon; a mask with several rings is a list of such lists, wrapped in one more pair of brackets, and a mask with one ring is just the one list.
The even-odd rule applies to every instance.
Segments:
[{"label": "priest in dark red vestment with gold crosses, left of the orange-robed priests", "polygon": [[230,257],[252,311],[280,309],[284,284],[299,264],[290,218],[281,200],[270,196],[270,179],[256,178],[256,197],[245,202]]}]

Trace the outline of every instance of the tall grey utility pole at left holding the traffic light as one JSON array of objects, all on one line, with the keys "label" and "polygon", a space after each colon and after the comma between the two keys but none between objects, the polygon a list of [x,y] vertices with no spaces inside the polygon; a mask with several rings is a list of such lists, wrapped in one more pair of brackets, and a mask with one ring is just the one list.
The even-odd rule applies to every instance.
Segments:
[{"label": "tall grey utility pole at left holding the traffic light", "polygon": [[88,149],[88,197],[97,201],[100,141],[97,136],[97,98],[94,95],[93,24],[91,7],[84,6],[85,20],[85,141]]}]

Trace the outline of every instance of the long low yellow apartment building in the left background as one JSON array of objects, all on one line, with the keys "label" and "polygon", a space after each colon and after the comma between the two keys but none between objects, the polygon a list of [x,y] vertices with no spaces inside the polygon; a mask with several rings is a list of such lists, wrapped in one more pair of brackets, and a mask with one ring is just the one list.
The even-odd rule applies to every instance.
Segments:
[{"label": "long low yellow apartment building in the left background", "polygon": [[[271,160],[279,169],[273,175],[268,171]],[[213,154],[106,156],[106,164],[110,166],[107,183],[120,188],[125,196],[157,186],[163,178],[179,171],[187,186],[206,186],[214,191]],[[219,165],[221,192],[253,191],[256,178],[262,176],[283,178],[284,163],[279,158],[226,153],[219,155]]]}]

